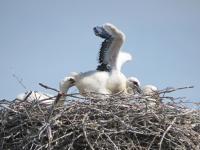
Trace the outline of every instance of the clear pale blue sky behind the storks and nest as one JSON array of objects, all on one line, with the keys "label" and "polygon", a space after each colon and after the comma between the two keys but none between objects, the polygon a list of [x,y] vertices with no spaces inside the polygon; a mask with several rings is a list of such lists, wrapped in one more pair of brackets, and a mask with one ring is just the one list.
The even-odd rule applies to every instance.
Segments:
[{"label": "clear pale blue sky behind the storks and nest", "polygon": [[0,99],[51,93],[38,83],[58,88],[70,72],[96,69],[102,39],[92,29],[107,22],[126,35],[127,77],[159,89],[193,85],[175,96],[200,101],[199,0],[1,0]]}]

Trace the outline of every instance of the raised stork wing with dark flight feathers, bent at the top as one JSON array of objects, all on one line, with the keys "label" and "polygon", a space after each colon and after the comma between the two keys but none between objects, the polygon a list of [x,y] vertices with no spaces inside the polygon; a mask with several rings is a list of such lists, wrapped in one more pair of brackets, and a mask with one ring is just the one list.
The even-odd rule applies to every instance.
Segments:
[{"label": "raised stork wing with dark flight feathers, bent at the top", "polygon": [[105,39],[99,51],[99,65],[97,70],[110,71],[117,68],[119,50],[124,42],[124,34],[112,24],[105,24],[103,27],[94,27],[94,33]]}]

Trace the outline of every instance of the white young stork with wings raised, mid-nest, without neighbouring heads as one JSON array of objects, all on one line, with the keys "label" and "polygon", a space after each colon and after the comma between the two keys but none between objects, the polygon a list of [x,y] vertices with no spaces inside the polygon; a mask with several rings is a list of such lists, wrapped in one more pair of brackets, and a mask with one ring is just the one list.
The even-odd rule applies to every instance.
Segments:
[{"label": "white young stork with wings raised, mid-nest, without neighbouring heads", "polygon": [[99,65],[96,70],[74,73],[75,86],[83,96],[88,93],[107,95],[127,92],[127,78],[121,73],[121,67],[132,57],[120,52],[125,35],[110,23],[94,27],[94,33],[104,39],[99,51]]}]

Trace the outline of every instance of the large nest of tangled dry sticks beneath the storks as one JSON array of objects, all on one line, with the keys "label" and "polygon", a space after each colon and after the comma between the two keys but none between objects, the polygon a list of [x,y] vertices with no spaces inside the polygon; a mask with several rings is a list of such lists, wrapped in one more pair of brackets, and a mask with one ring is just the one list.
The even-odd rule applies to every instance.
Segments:
[{"label": "large nest of tangled dry sticks beneath the storks", "polygon": [[0,149],[200,149],[200,111],[166,96],[173,91],[160,91],[159,100],[71,94],[64,106],[1,100]]}]

